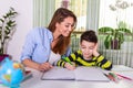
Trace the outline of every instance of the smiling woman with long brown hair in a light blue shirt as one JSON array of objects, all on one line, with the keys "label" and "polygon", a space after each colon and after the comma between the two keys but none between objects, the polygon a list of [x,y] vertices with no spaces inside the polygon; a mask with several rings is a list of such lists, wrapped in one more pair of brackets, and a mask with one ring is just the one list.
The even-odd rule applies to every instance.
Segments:
[{"label": "smiling woman with long brown hair in a light blue shirt", "polygon": [[76,16],[68,9],[59,8],[45,28],[35,28],[25,40],[21,54],[22,63],[31,68],[45,72],[65,54]]}]

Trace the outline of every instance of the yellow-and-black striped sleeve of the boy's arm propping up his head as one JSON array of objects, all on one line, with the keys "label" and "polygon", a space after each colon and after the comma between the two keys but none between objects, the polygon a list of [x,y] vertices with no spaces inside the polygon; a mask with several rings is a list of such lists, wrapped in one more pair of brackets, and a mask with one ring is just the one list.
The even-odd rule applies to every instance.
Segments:
[{"label": "yellow-and-black striped sleeve of the boy's arm propping up his head", "polygon": [[112,68],[112,63],[108,59],[105,59],[105,57],[103,55],[99,55],[96,57],[96,66],[106,69],[106,70],[111,70]]}]

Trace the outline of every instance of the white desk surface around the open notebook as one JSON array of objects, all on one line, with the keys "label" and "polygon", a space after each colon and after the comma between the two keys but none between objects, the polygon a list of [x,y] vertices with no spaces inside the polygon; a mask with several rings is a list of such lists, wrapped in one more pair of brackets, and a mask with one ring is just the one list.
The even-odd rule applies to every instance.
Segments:
[{"label": "white desk surface around the open notebook", "polygon": [[[113,70],[133,72],[125,66],[114,66]],[[120,80],[119,82],[109,81],[75,81],[75,80],[41,80],[42,73],[32,69],[33,77],[23,81],[21,88],[133,88],[133,81]],[[6,88],[0,85],[0,88]]]}]

